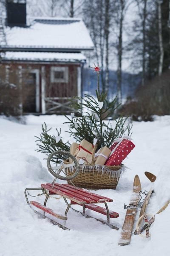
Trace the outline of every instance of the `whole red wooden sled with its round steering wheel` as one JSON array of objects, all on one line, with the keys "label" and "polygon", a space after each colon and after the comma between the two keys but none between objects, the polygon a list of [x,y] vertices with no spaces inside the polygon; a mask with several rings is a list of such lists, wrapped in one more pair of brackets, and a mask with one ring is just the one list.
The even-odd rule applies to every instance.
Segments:
[{"label": "whole red wooden sled with its round steering wheel", "polygon": [[[61,163],[60,166],[51,167],[50,160],[54,154],[60,154],[60,155],[65,154],[68,157],[71,157],[74,160],[74,164],[76,165],[76,172],[71,176],[66,176],[66,177],[60,176],[59,173],[65,168],[65,164]],[[25,189],[25,196],[26,196],[27,204],[30,205],[31,207],[36,207],[37,209],[41,210],[41,212],[38,212],[37,210],[34,210],[34,212],[36,212],[37,214],[40,214],[42,218],[49,218],[48,216],[51,215],[54,218],[66,221],[69,209],[73,209],[76,212],[80,212],[77,209],[74,209],[72,207],[72,205],[76,204],[76,205],[79,205],[82,207],[82,212],[80,212],[80,213],[83,216],[85,216],[86,218],[94,218],[94,217],[85,214],[85,209],[90,209],[92,211],[99,212],[99,213],[107,216],[107,221],[103,221],[101,219],[95,218],[97,221],[101,221],[103,224],[107,224],[109,227],[119,230],[118,227],[115,227],[112,224],[110,224],[110,218],[119,217],[119,214],[117,212],[109,211],[109,209],[108,209],[107,203],[113,202],[113,199],[107,198],[107,197],[104,197],[101,195],[97,195],[95,193],[89,192],[88,190],[79,189],[75,186],[71,186],[68,184],[55,183],[56,178],[59,178],[62,180],[71,180],[76,175],[78,175],[79,163],[77,162],[75,157],[73,157],[70,153],[65,152],[65,151],[56,151],[56,152],[51,153],[50,156],[48,157],[47,166],[48,166],[48,170],[55,177],[54,182],[41,184],[41,187],[39,187],[39,188],[26,188]],[[67,167],[68,167],[68,165],[67,165]],[[57,170],[58,173],[54,172],[54,170]],[[28,192],[29,190],[41,190],[42,194],[39,194],[39,195],[45,195],[44,204],[40,204],[37,201],[29,202],[28,201],[28,195],[30,195]],[[50,195],[60,195],[64,199],[65,203],[67,204],[67,208],[65,210],[65,215],[60,215],[46,206]],[[68,200],[70,202],[68,202]],[[105,204],[105,207],[101,207],[96,204]],[[51,219],[51,218],[49,218],[49,219],[51,220],[52,223],[58,225],[62,229],[64,229],[64,230],[68,229],[67,227],[65,227],[65,225],[59,224],[57,221],[54,221],[54,219]]]}]

